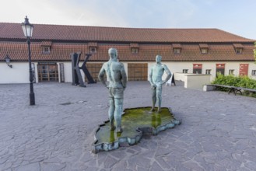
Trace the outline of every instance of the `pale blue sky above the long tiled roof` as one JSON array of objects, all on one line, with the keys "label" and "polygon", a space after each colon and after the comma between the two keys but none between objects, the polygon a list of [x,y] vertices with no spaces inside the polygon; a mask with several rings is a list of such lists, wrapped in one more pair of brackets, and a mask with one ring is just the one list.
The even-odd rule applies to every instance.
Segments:
[{"label": "pale blue sky above the long tiled roof", "polygon": [[256,40],[256,0],[0,0],[1,23],[216,28]]}]

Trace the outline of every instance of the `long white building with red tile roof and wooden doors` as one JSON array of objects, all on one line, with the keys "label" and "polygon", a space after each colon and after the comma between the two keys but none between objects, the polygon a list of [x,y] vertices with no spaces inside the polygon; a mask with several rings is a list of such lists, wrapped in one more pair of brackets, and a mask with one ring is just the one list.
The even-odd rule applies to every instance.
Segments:
[{"label": "long white building with red tile roof and wooden doors", "polygon": [[[135,29],[34,24],[31,60],[34,82],[72,82],[70,54],[92,56],[86,64],[97,79],[107,50],[117,48],[128,81],[148,80],[157,54],[174,73],[248,75],[256,79],[254,41],[218,29]],[[11,59],[12,68],[5,63]],[[28,83],[26,38],[19,23],[0,23],[0,84]],[[84,75],[82,75],[85,78]],[[86,81],[86,79],[85,79]]]}]

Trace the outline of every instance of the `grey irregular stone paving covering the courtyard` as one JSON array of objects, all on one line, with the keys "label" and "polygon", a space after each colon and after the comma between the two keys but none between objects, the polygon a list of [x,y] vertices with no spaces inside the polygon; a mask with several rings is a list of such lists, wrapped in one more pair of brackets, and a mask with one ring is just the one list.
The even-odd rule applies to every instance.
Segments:
[{"label": "grey irregular stone paving covering the courtyard", "polygon": [[[182,124],[138,145],[91,153],[107,120],[107,89],[70,83],[0,85],[0,170],[256,170],[256,99],[163,86]],[[128,82],[124,107],[150,106],[149,82]]]}]

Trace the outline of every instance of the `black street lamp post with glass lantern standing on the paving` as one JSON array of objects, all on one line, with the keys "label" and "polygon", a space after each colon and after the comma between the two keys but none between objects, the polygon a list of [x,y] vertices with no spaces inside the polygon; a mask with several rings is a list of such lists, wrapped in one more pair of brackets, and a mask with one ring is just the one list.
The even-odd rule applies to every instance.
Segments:
[{"label": "black street lamp post with glass lantern standing on the paving", "polygon": [[26,17],[25,22],[21,23],[23,27],[23,33],[26,37],[26,43],[29,49],[29,63],[30,63],[30,105],[35,105],[35,94],[33,92],[33,75],[32,75],[32,67],[31,67],[31,53],[30,53],[30,37],[32,37],[33,33],[33,25],[30,24],[29,19]]}]

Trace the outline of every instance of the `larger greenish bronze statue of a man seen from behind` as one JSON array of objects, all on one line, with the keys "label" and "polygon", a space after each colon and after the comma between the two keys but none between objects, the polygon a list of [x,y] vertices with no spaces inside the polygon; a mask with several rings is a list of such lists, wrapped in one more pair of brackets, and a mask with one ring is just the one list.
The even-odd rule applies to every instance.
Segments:
[{"label": "larger greenish bronze statue of a man seen from behind", "polygon": [[[103,64],[98,78],[109,90],[110,108],[108,110],[108,117],[110,120],[110,130],[114,131],[117,127],[117,132],[122,132],[121,114],[123,113],[124,89],[126,87],[127,76],[124,65],[117,60],[117,49],[110,48],[108,54],[110,60]],[[109,81],[108,86],[104,80],[105,73]],[[114,120],[116,127],[114,126]]]}]

